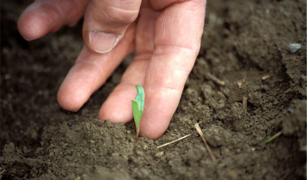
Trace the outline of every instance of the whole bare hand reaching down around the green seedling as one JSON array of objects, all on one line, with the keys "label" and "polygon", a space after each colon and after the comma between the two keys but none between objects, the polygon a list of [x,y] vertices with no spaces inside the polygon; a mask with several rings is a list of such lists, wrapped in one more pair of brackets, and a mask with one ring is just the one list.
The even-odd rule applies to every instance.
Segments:
[{"label": "whole bare hand reaching down around the green seedling", "polygon": [[99,119],[133,119],[135,85],[145,90],[140,136],[159,138],[170,124],[200,49],[205,0],[36,0],[18,19],[34,40],[84,16],[85,46],[63,81],[60,106],[77,111],[133,50],[136,56],[102,104]]}]

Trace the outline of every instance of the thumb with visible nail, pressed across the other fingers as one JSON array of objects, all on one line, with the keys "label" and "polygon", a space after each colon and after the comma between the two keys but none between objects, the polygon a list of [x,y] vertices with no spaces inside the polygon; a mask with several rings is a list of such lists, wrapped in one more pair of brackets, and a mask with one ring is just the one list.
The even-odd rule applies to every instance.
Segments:
[{"label": "thumb with visible nail, pressed across the other fingers", "polygon": [[91,0],[85,12],[83,39],[88,49],[107,53],[135,21],[141,0]]}]

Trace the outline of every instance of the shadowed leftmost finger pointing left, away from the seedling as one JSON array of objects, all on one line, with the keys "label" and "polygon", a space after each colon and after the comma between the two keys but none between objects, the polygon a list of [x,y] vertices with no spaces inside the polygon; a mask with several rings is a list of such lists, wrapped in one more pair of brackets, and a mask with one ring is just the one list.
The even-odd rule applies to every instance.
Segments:
[{"label": "shadowed leftmost finger pointing left, away from the seedling", "polygon": [[17,27],[26,40],[73,25],[84,15],[89,0],[35,0],[20,15]]}]

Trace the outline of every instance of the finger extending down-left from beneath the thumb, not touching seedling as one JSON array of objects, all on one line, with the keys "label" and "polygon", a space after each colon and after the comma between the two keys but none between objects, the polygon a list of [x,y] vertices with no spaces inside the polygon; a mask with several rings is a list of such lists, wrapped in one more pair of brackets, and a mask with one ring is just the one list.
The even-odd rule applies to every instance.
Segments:
[{"label": "finger extending down-left from beneath the thumb, not touching seedling", "polygon": [[77,111],[102,86],[122,59],[132,51],[134,32],[135,24],[131,24],[112,53],[94,53],[86,46],[82,49],[58,91],[57,99],[62,108]]}]

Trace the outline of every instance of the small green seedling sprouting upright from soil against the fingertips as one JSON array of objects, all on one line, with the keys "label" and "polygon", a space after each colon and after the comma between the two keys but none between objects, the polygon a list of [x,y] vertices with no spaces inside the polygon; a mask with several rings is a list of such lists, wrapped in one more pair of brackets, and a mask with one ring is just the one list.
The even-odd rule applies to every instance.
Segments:
[{"label": "small green seedling sprouting upright from soil against the fingertips", "polygon": [[141,122],[141,118],[143,115],[145,93],[143,87],[140,85],[136,85],[136,90],[137,90],[136,99],[132,100],[132,113],[136,123],[136,141],[137,141],[139,133],[139,124]]}]

